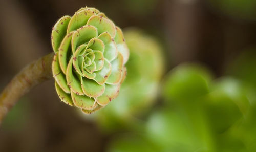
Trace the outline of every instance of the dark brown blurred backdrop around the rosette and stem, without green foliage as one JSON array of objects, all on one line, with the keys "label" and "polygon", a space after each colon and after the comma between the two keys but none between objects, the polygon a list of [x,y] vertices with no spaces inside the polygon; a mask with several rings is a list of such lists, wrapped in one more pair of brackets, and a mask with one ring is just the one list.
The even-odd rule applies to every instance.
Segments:
[{"label": "dark brown blurred backdrop around the rosette and stem, without green foliage", "polygon": [[[254,18],[231,17],[206,1],[0,0],[0,90],[27,63],[52,52],[51,28],[58,18],[85,6],[98,8],[121,28],[155,35],[168,70],[198,61],[218,77],[256,42]],[[60,103],[53,85],[47,81],[20,100],[0,128],[0,151],[105,151],[114,135]]]}]

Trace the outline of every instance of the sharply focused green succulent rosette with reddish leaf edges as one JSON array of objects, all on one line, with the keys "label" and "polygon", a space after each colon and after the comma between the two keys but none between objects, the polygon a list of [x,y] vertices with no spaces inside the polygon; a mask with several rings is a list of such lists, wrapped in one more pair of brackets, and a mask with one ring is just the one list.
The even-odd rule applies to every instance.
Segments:
[{"label": "sharply focused green succulent rosette with reddish leaf edges", "polygon": [[90,114],[119,94],[129,58],[122,31],[95,8],[63,16],[52,30],[52,72],[61,101]]}]

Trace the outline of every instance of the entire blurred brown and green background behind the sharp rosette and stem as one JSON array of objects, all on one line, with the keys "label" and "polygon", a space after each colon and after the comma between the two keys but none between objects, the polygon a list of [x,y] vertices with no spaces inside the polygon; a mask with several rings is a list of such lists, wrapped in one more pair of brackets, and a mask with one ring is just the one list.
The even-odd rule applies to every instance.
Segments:
[{"label": "entire blurred brown and green background behind the sharp rosette and stem", "polygon": [[0,90],[85,6],[123,29],[119,97],[84,116],[44,82],[6,117],[0,151],[256,151],[256,0],[0,0]]}]

